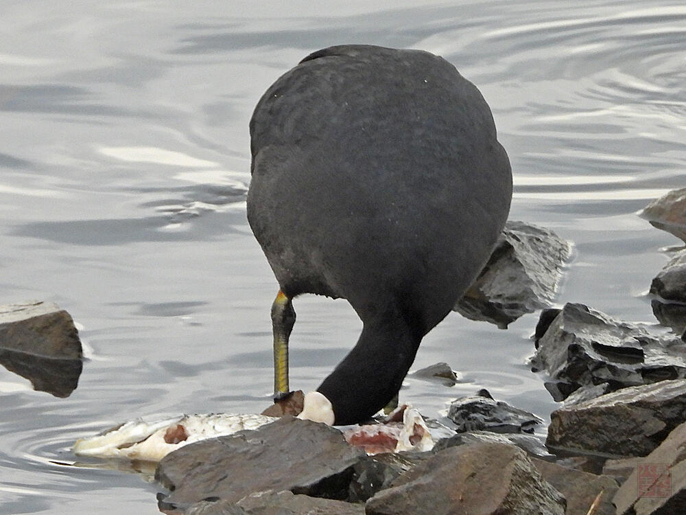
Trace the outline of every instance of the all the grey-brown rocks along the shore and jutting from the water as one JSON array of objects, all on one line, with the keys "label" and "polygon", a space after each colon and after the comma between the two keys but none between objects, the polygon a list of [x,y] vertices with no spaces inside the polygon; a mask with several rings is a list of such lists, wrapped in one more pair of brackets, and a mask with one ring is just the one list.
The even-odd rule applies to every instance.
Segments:
[{"label": "all the grey-brown rocks along the shore and jutting from the water", "polygon": [[[651,203],[641,216],[686,241],[686,189]],[[650,285],[660,328],[613,319],[579,303],[549,308],[569,249],[551,231],[510,222],[487,269],[456,306],[469,318],[502,328],[543,309],[531,367],[561,403],[545,442],[534,433],[543,426],[539,417],[487,391],[453,400],[453,434],[423,452],[371,456],[346,442],[338,428],[285,414],[161,459],[155,472],[166,489],[158,495],[160,510],[685,513],[686,251],[674,253]],[[69,314],[43,303],[0,306],[0,363],[36,389],[69,395],[82,365]],[[456,380],[445,363],[416,374]]]}]

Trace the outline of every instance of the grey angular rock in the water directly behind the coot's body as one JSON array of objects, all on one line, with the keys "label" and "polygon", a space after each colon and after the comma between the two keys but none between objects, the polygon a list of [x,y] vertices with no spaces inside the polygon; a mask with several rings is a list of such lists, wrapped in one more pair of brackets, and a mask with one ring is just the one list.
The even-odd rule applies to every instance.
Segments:
[{"label": "grey angular rock in the water directly behind the coot's body", "polygon": [[453,310],[506,328],[552,304],[570,251],[549,229],[508,221],[488,263]]}]

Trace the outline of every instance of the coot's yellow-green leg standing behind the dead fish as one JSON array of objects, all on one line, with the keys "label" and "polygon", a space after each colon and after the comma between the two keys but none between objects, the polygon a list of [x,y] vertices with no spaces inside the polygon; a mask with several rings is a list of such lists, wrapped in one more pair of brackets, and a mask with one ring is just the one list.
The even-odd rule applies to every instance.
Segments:
[{"label": "coot's yellow-green leg standing behind the dead fish", "polygon": [[290,395],[288,387],[288,338],[296,322],[291,299],[279,290],[272,304],[272,330],[274,332],[274,400]]}]

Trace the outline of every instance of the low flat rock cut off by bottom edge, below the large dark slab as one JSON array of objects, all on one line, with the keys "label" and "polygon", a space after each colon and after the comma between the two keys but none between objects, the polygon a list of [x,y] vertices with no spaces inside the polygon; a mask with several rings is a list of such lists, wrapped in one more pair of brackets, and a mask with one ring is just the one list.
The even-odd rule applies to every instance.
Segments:
[{"label": "low flat rock cut off by bottom edge, below the large dark slab", "polygon": [[364,515],[364,504],[319,499],[292,492],[255,492],[237,503],[200,501],[185,515]]}]

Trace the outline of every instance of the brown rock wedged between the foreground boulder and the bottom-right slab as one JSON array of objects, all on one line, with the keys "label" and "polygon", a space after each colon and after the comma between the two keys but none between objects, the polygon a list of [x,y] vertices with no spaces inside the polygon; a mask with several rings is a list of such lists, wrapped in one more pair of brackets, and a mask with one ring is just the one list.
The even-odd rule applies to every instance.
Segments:
[{"label": "brown rock wedged between the foreground boulder and the bottom-right slab", "polygon": [[613,478],[580,472],[542,459],[530,459],[543,479],[565,496],[568,514],[587,514],[595,497],[602,492],[594,515],[615,515],[612,498],[619,485]]}]

